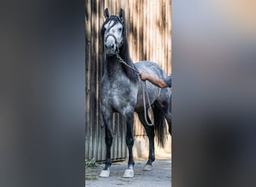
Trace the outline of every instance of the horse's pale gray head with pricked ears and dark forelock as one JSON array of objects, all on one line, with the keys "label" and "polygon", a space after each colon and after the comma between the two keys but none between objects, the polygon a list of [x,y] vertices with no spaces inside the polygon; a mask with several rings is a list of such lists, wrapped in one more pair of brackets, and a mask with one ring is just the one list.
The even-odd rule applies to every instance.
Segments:
[{"label": "horse's pale gray head with pricked ears and dark forelock", "polygon": [[106,55],[118,54],[124,39],[124,10],[121,9],[119,16],[109,16],[109,10],[104,10],[106,18],[101,29],[105,43]]}]

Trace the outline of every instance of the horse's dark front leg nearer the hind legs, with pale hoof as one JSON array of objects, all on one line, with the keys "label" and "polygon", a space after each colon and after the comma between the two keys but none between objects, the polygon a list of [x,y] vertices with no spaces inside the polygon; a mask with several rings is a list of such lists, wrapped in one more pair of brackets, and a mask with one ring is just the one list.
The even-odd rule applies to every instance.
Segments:
[{"label": "horse's dark front leg nearer the hind legs, with pale hoof", "polygon": [[127,147],[128,147],[128,151],[129,151],[129,161],[128,161],[128,168],[124,173],[124,177],[133,177],[134,173],[133,173],[133,166],[135,164],[134,160],[133,160],[133,154],[132,154],[132,147],[133,147],[133,111],[129,112],[129,114],[126,114],[126,123],[127,123],[127,137],[126,137],[126,141],[127,141]]}]

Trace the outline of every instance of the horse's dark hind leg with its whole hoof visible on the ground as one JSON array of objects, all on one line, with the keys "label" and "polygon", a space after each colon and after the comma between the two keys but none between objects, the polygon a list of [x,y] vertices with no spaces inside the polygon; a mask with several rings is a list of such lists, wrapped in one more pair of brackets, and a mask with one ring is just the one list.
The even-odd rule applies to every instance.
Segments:
[{"label": "horse's dark hind leg with its whole hoof visible on the ground", "polygon": [[[144,111],[138,112],[138,118],[141,121],[142,125],[144,126],[144,129],[147,133],[147,137],[149,140],[149,155],[146,165],[144,166],[143,171],[152,171],[152,163],[155,161],[155,145],[154,145],[154,137],[155,137],[155,131],[154,126],[148,126],[146,123],[146,120],[144,119]],[[147,116],[147,121],[150,122],[149,117]]]}]

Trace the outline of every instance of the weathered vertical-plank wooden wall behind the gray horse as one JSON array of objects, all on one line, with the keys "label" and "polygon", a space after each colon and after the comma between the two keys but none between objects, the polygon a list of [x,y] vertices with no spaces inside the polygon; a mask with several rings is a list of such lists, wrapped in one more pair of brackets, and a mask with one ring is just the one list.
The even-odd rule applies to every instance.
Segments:
[{"label": "weathered vertical-plank wooden wall behind the gray horse", "polygon": [[[103,75],[103,49],[100,28],[105,20],[103,10],[111,15],[125,11],[129,50],[132,61],[156,61],[171,73],[171,0],[85,0],[85,159],[105,159],[105,128],[100,114],[99,81]],[[135,114],[135,136],[145,132]],[[115,114],[112,159],[124,159],[126,126]]]}]

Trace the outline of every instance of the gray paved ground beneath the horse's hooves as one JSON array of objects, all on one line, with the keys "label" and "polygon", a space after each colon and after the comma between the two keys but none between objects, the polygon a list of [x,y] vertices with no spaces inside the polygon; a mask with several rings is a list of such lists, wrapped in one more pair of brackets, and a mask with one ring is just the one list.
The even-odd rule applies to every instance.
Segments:
[{"label": "gray paved ground beneath the horse's hooves", "polygon": [[133,178],[123,177],[124,171],[127,169],[127,161],[112,163],[110,177],[108,178],[99,177],[103,166],[97,168],[85,168],[85,186],[171,186],[171,157],[156,158],[156,161],[153,162],[153,171],[142,171],[146,162],[147,160],[135,161]]}]

